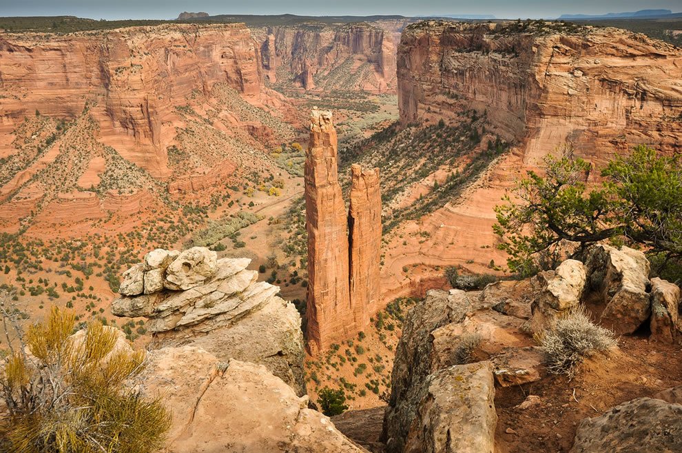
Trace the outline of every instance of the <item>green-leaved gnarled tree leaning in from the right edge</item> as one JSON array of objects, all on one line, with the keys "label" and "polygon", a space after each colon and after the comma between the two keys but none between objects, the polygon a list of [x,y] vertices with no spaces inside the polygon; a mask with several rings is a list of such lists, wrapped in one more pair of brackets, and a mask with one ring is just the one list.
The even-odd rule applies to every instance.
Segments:
[{"label": "green-leaved gnarled tree leaning in from the right edge", "polygon": [[504,197],[495,208],[501,250],[519,274],[555,268],[588,246],[606,239],[643,245],[663,256],[666,265],[682,260],[681,157],[665,157],[645,145],[617,157],[601,172],[605,181],[586,182],[592,165],[567,149],[545,158],[545,176],[528,172],[515,190],[519,201]]}]

